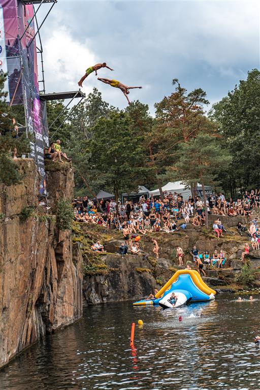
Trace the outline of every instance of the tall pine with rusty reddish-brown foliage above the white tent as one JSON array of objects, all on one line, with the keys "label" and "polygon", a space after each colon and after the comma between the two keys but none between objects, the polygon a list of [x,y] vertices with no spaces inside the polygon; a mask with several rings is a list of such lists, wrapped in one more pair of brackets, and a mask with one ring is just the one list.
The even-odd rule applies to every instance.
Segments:
[{"label": "tall pine with rusty reddish-brown foliage above the white tent", "polygon": [[[189,142],[200,132],[213,134],[216,128],[204,115],[204,106],[209,104],[206,92],[197,88],[188,93],[178,79],[173,80],[173,85],[176,86],[175,91],[154,105],[156,126],[153,128],[155,143],[152,148],[156,166],[174,166],[181,155],[180,143]],[[167,177],[161,171],[161,180]],[[196,182],[191,183],[192,191],[193,187],[196,187]]]}]

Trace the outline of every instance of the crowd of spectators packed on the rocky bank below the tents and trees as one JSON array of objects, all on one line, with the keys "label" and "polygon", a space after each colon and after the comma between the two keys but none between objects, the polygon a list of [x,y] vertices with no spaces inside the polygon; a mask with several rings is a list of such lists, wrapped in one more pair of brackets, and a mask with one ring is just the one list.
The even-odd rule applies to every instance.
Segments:
[{"label": "crowd of spectators packed on the rocky bank below the tents and trees", "polygon": [[[118,201],[117,205],[114,199],[101,199],[100,206],[101,209],[98,208],[95,201],[88,197],[77,197],[73,200],[75,220],[98,224],[107,229],[117,229],[122,232],[124,243],[119,250],[122,256],[127,253],[128,248],[133,254],[139,253],[138,241],[142,235],[147,235],[149,232],[174,233],[185,229],[188,223],[194,226],[205,224],[204,202],[200,196],[196,196],[194,199],[190,196],[188,200],[183,201],[181,194],[169,192],[164,193],[163,198],[160,196],[158,199],[141,196],[137,202],[125,200],[122,204]],[[255,207],[259,207],[258,190],[251,190],[250,193],[245,191],[243,197],[237,201],[225,200],[221,192],[218,196],[209,195],[207,197],[208,213],[216,215],[212,229],[218,238],[226,232],[221,215],[250,216]],[[259,249],[260,228],[257,225],[257,218],[251,222],[249,230],[241,222],[238,223],[237,230],[241,235],[246,231],[246,235],[251,240],[252,249]],[[153,252],[158,257],[159,246],[156,241],[153,244]],[[93,250],[100,249],[93,248]],[[242,254],[242,260],[248,252],[246,247]],[[182,255],[183,253],[178,255],[179,265],[183,264]],[[207,251],[205,253],[198,252],[192,256],[194,264],[201,272],[203,272],[203,265],[221,268],[226,262],[226,254],[223,250],[215,250],[211,254]]]}]

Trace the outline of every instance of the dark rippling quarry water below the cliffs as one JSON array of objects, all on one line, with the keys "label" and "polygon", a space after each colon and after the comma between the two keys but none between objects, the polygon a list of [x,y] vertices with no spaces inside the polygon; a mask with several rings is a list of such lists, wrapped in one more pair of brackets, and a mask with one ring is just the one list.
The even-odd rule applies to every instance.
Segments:
[{"label": "dark rippling quarry water below the cliffs", "polygon": [[[88,307],[82,321],[2,370],[0,388],[258,390],[260,348],[253,338],[260,335],[259,303],[217,296],[166,311],[131,303]],[[203,315],[194,316],[200,309]],[[136,329],[131,350],[131,322],[139,318],[144,326]]]}]

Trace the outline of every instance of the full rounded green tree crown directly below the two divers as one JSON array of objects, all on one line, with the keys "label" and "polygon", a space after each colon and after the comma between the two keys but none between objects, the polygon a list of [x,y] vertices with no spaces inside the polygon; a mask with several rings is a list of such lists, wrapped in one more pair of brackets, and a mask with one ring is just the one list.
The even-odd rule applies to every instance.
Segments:
[{"label": "full rounded green tree crown directly below the two divers", "polygon": [[108,118],[96,120],[88,143],[89,172],[99,172],[107,188],[114,190],[116,200],[119,191],[136,189],[145,171],[142,135],[131,131],[130,124],[125,112],[111,111]]}]

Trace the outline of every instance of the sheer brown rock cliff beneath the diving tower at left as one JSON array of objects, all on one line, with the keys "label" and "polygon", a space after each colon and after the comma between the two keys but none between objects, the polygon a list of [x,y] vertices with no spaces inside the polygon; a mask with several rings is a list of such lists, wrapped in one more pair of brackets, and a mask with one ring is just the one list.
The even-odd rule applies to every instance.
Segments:
[{"label": "sheer brown rock cliff beneath the diving tower at left", "polygon": [[[78,244],[70,231],[57,230],[55,216],[42,215],[34,161],[17,164],[24,173],[22,183],[0,188],[0,367],[46,332],[82,315]],[[67,172],[72,177],[69,165]],[[65,169],[62,176],[68,175]],[[72,196],[68,186],[58,185]],[[31,215],[21,220],[21,212],[31,207]]]}]

